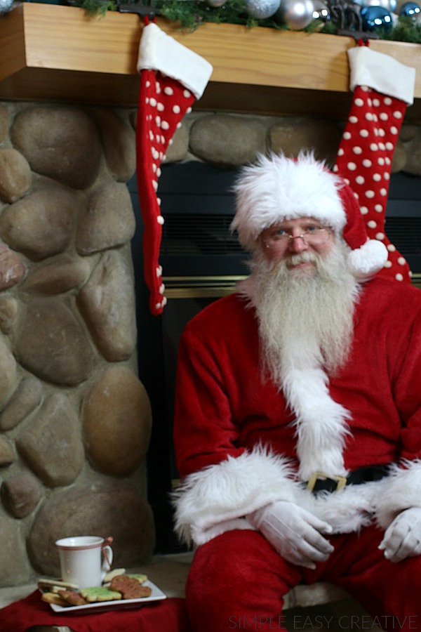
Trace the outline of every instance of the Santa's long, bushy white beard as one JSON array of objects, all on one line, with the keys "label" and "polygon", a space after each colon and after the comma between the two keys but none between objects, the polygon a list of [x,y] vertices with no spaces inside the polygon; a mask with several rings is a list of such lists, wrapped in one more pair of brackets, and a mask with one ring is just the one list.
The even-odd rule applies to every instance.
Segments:
[{"label": "Santa's long, bushy white beard", "polygon": [[[262,366],[281,384],[283,367],[317,364],[335,374],[352,346],[359,284],[349,272],[345,246],[326,257],[305,251],[270,267],[253,265],[253,304],[258,313]],[[288,270],[287,263],[314,261],[314,268]]]}]

